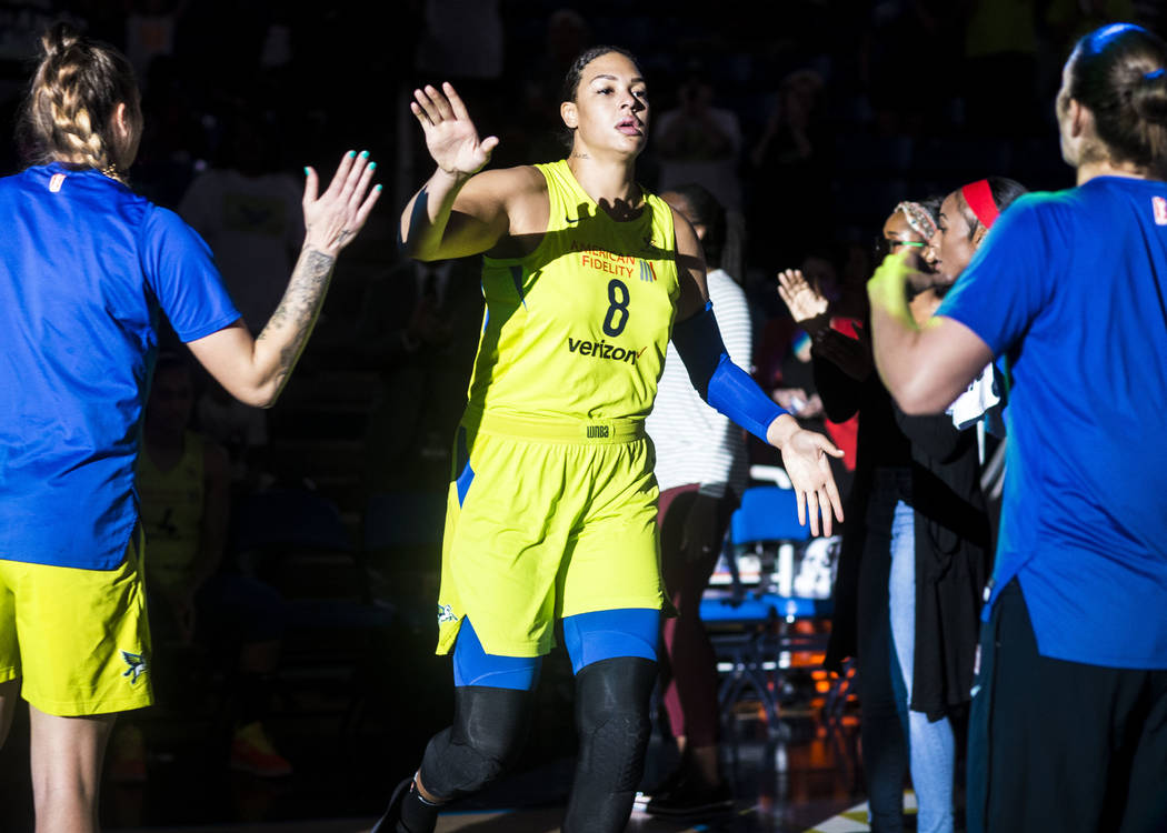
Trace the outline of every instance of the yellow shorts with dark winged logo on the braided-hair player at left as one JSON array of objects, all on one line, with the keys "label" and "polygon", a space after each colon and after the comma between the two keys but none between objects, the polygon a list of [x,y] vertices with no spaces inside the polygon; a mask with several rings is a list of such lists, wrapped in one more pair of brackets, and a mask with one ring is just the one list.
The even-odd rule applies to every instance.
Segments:
[{"label": "yellow shorts with dark winged logo on the braided-hair player at left", "polygon": [[46,714],[149,706],[141,532],[117,569],[0,560],[0,682]]}]

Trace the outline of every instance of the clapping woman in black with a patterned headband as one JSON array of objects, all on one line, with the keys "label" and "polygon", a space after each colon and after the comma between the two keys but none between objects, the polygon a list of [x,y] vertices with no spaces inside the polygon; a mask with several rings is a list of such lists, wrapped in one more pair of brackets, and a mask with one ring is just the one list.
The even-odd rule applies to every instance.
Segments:
[{"label": "clapping woman in black with a patterned headband", "polygon": [[[923,252],[934,236],[939,204],[939,197],[932,197],[896,205],[883,224],[881,249],[916,252],[925,266]],[[855,658],[869,824],[880,833],[900,833],[909,749],[892,624],[911,622],[915,611],[910,594],[899,602],[908,609],[892,610],[888,590],[895,556],[913,562],[916,553],[911,444],[875,373],[866,322],[857,328],[858,338],[833,329],[827,300],[798,270],[778,275],[778,292],[795,320],[811,334],[815,384],[827,416],[838,422],[859,414],[855,476],[846,506],[851,522],[839,553],[825,664],[839,672],[844,658]],[[917,296],[929,302],[924,292]],[[921,316],[930,309],[924,308]],[[951,780],[951,771],[948,777]],[[929,792],[928,783],[924,778],[917,784],[917,797]]]}]

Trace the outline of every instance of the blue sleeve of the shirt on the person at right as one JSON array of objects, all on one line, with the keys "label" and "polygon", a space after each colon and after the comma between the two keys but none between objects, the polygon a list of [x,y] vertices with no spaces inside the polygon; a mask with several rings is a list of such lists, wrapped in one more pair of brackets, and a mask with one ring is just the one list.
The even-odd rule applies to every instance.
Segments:
[{"label": "blue sleeve of the shirt on the person at right", "polygon": [[937,315],[959,321],[1000,356],[1053,296],[1067,249],[1040,223],[1050,195],[1026,195],[993,225]]}]

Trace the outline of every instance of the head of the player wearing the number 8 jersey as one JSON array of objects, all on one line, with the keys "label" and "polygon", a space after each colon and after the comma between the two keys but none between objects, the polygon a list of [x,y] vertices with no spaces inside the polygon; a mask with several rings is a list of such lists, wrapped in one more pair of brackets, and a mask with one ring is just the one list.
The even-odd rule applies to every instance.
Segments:
[{"label": "head of the player wearing the number 8 jersey", "polygon": [[575,100],[564,103],[560,112],[564,123],[575,128],[576,152],[610,149],[635,155],[648,141],[648,86],[636,64],[620,52],[588,63],[580,74]]}]

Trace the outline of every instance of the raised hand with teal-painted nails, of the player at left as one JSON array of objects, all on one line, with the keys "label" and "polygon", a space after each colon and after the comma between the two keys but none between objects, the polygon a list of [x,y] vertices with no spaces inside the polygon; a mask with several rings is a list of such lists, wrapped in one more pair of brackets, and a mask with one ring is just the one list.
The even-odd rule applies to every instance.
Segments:
[{"label": "raised hand with teal-painted nails, of the player at left", "polygon": [[376,169],[377,163],[369,161],[368,150],[361,154],[349,150],[341,158],[328,189],[317,196],[320,178],[315,169],[305,168],[305,249],[335,258],[352,242],[380,196],[380,186],[369,190]]}]

